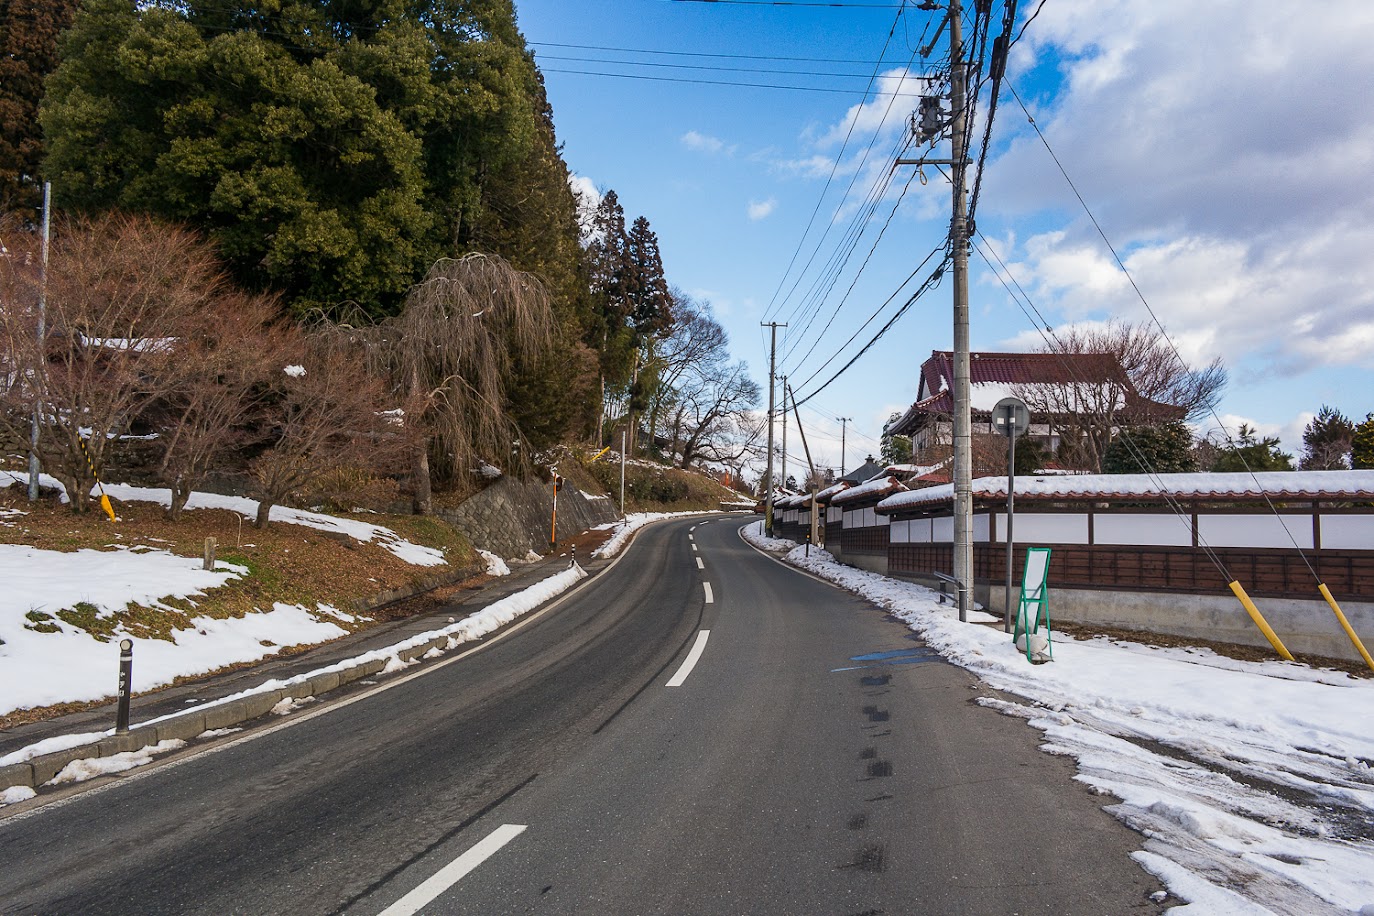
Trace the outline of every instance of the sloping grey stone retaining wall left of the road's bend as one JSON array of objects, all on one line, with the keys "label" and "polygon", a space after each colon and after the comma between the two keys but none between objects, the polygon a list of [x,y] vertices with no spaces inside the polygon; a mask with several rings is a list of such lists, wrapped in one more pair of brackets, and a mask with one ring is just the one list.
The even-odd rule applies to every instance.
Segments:
[{"label": "sloping grey stone retaining wall left of the road's bend", "polygon": [[[458,508],[437,509],[436,515],[466,534],[475,547],[504,559],[522,558],[529,551],[547,553],[554,486],[503,477]],[[559,538],[617,518],[614,500],[589,500],[573,486],[563,486],[558,494]]]}]

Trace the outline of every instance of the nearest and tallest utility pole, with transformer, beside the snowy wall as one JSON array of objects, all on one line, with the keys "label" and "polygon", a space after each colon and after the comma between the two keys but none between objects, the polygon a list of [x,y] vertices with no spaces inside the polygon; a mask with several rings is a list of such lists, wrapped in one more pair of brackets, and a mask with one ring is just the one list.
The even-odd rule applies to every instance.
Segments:
[{"label": "nearest and tallest utility pole, with transformer, beside the snowy wall", "polygon": [[[959,589],[959,619],[967,622],[973,591],[973,435],[969,412],[969,203],[965,194],[969,151],[965,59],[963,0],[948,0],[944,26],[949,29],[949,158],[897,159],[897,165],[948,165],[951,170],[952,214],[949,255],[954,266],[954,577]],[[937,8],[933,0],[923,10]],[[921,99],[918,140],[933,140],[944,132],[937,98]]]}]

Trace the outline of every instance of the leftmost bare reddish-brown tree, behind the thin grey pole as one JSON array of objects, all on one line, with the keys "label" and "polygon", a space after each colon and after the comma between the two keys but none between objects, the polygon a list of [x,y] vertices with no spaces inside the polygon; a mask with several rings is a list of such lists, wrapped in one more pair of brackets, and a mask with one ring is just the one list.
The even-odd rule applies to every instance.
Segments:
[{"label": "leftmost bare reddish-brown tree, behind the thin grey pole", "polygon": [[27,442],[38,417],[38,457],[87,509],[92,470],[131,420],[166,397],[176,343],[224,293],[213,251],[187,229],[107,214],[54,232],[45,328],[38,341],[37,239],[7,233],[11,290],[3,313],[4,438]]}]

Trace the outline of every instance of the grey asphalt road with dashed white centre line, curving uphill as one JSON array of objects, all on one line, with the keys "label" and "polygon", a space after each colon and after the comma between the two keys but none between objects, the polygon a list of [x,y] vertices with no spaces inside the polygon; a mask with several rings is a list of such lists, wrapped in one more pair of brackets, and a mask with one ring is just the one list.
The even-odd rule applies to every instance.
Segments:
[{"label": "grey asphalt road with dashed white centre line, curving uphill", "polygon": [[0,912],[1158,911],[1039,732],[738,527],[654,526],[480,651],[0,820]]}]

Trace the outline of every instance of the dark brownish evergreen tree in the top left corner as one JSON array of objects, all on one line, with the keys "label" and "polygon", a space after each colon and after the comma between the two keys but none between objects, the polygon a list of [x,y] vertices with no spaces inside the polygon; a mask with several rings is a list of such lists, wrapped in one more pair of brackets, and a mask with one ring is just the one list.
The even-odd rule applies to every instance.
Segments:
[{"label": "dark brownish evergreen tree in the top left corner", "polygon": [[0,0],[0,211],[25,221],[43,206],[43,81],[80,0]]}]

